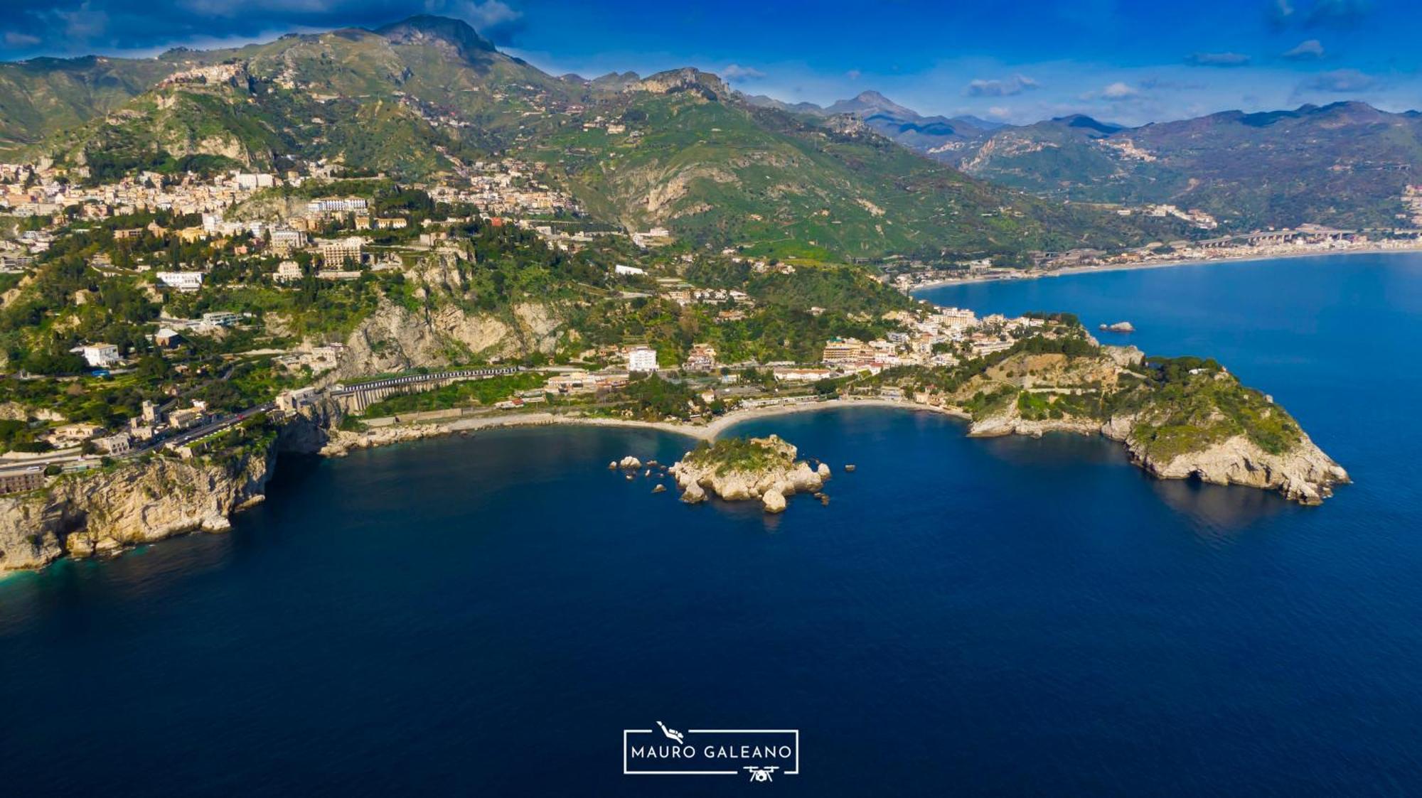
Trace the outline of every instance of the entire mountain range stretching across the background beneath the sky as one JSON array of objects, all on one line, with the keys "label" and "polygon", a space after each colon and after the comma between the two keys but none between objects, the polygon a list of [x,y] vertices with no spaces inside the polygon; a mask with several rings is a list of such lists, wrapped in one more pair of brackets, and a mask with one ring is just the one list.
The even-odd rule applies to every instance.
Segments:
[{"label": "entire mountain range stretching across the background beneath the sky", "polygon": [[[1021,258],[1190,234],[1109,203],[1230,227],[1384,223],[1422,119],[1365,105],[1121,128],[923,116],[877,92],[820,108],[697,70],[549,75],[468,24],[418,16],[158,58],[0,64],[0,158],[139,169],[328,159],[408,180],[515,156],[599,220],[769,254]],[[1071,202],[1065,202],[1071,200]]]}]

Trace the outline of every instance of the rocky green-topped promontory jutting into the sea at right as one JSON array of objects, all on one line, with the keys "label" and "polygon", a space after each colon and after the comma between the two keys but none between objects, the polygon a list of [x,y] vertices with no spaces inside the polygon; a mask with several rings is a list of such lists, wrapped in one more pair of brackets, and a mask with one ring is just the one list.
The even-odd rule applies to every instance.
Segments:
[{"label": "rocky green-topped promontory jutting into the sea at right", "polygon": [[1219,362],[1102,346],[1074,324],[900,385],[968,417],[971,436],[1099,433],[1160,479],[1276,490],[1303,504],[1349,481],[1284,408]]}]

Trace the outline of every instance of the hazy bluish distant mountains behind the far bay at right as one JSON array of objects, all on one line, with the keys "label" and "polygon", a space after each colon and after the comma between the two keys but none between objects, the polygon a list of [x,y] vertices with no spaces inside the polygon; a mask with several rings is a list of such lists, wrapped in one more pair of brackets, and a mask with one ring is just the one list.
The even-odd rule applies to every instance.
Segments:
[{"label": "hazy bluish distant mountains behind the far bay at right", "polygon": [[1065,116],[997,131],[954,162],[1044,196],[1199,207],[1233,227],[1391,226],[1422,182],[1422,115],[1337,102],[1140,128]]}]

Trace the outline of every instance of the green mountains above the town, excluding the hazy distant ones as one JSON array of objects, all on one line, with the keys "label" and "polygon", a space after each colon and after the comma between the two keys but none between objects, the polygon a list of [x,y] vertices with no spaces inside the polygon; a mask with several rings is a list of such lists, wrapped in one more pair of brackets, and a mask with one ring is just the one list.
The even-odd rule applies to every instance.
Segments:
[{"label": "green mountains above the town, excluding the hazy distant ones", "polygon": [[[182,70],[36,149],[92,180],[287,159],[424,179],[513,155],[602,220],[772,254],[1021,256],[1179,233],[993,186],[853,116],[757,105],[695,70],[555,78],[441,17],[165,58]],[[906,111],[879,99],[860,105]]]}]

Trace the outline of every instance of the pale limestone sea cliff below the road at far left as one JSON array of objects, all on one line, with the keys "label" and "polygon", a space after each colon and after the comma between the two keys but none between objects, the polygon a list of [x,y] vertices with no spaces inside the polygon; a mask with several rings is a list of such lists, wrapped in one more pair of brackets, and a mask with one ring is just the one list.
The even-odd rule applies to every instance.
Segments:
[{"label": "pale limestone sea cliff below the road at far left", "polygon": [[155,457],[61,479],[46,491],[0,497],[0,569],[40,568],[63,554],[108,554],[193,530],[228,530],[233,511],[263,498],[273,457],[270,452],[226,463]]}]

